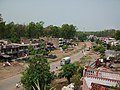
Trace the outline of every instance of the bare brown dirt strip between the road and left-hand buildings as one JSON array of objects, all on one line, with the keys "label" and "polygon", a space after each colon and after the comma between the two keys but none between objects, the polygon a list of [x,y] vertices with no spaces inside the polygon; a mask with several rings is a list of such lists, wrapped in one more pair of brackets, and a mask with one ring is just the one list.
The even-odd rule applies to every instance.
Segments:
[{"label": "bare brown dirt strip between the road and left-hand buildings", "polygon": [[[62,52],[60,50],[54,50],[51,54],[56,54],[56,59],[50,59],[49,62],[53,62],[56,60],[60,60],[60,58],[64,56],[69,56],[75,52],[78,52],[84,46],[83,42],[78,43],[78,46],[75,46],[73,49],[69,49],[66,52]],[[9,78],[11,76],[17,75],[24,71],[26,64],[24,62],[11,62],[11,66],[3,67],[3,63],[0,63],[0,80]]]}]

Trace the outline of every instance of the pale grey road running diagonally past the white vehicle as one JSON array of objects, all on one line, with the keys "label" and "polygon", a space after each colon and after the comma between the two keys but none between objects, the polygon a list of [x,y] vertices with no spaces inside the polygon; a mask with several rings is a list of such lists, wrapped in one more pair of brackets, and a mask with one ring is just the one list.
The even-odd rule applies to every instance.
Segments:
[{"label": "pale grey road running diagonally past the white vehicle", "polygon": [[[86,43],[87,46],[90,45],[89,42]],[[88,53],[89,51],[86,51],[86,53]],[[83,57],[83,53],[82,51],[71,55],[71,63],[75,62],[75,61],[79,61],[81,57]],[[57,68],[56,68],[57,67]],[[56,71],[57,69],[60,69],[60,61],[56,61],[56,62],[52,62],[50,63],[50,71]],[[21,75],[18,74],[16,76],[4,79],[0,81],[0,90],[15,90],[15,84],[18,83],[20,81],[20,77]]]}]

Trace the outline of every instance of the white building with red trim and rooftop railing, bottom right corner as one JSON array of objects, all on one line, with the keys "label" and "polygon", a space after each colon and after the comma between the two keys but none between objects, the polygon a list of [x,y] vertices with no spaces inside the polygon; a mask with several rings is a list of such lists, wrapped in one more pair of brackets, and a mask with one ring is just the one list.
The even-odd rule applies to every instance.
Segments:
[{"label": "white building with red trim and rooftop railing, bottom right corner", "polygon": [[109,90],[120,83],[120,72],[85,68],[82,90]]}]

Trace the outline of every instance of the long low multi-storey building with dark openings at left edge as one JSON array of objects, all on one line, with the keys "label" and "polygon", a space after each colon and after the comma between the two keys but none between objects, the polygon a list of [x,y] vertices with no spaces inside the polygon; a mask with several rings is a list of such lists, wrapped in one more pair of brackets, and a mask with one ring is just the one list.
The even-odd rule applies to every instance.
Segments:
[{"label": "long low multi-storey building with dark openings at left edge", "polygon": [[20,57],[24,57],[28,52],[28,47],[32,45],[34,49],[38,50],[40,49],[39,43],[8,43],[5,40],[0,40],[0,57],[1,59],[16,59]]}]

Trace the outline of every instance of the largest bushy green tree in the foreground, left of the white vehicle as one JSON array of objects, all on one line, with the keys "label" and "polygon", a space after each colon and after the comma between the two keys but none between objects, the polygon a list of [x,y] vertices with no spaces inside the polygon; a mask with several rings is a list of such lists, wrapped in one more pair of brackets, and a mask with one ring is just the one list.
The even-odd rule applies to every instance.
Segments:
[{"label": "largest bushy green tree in the foreground, left of the white vehicle", "polygon": [[[28,68],[23,72],[21,83],[26,90],[37,90],[36,84],[39,83],[40,90],[49,90],[53,74],[50,73],[50,66],[43,56],[35,56],[30,59]],[[36,83],[36,84],[35,84]]]}]

